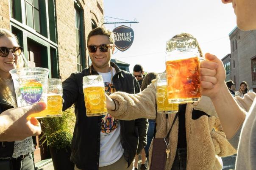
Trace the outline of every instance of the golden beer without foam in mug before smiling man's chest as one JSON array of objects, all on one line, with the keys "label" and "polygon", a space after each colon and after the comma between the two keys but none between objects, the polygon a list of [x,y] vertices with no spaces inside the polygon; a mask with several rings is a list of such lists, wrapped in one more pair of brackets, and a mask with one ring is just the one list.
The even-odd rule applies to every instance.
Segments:
[{"label": "golden beer without foam in mug before smiling man's chest", "polygon": [[83,88],[86,116],[100,116],[107,113],[105,89],[102,86]]}]

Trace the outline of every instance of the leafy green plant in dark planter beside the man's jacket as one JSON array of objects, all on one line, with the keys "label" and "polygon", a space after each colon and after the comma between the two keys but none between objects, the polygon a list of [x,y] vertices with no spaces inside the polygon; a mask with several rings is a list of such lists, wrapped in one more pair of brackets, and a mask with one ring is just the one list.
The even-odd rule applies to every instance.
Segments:
[{"label": "leafy green plant in dark planter beside the man's jacket", "polygon": [[74,107],[64,111],[62,117],[42,118],[40,121],[42,136],[39,140],[42,144],[47,142],[47,145],[57,149],[71,145],[75,127]]}]

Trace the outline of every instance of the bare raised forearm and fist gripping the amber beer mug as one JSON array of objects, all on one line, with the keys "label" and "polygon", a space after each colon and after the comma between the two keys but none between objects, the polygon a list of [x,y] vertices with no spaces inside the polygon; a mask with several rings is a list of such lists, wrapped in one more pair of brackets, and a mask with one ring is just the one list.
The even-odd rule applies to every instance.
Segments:
[{"label": "bare raised forearm and fist gripping the amber beer mug", "polygon": [[223,130],[232,138],[245,120],[245,111],[239,107],[225,85],[225,69],[222,61],[207,53],[200,63],[202,95],[211,98]]}]

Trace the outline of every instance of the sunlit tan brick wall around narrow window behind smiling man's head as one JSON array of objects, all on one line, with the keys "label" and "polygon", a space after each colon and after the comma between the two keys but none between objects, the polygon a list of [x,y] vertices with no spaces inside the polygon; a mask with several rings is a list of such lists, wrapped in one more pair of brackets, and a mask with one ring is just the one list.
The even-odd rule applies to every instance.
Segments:
[{"label": "sunlit tan brick wall around narrow window behind smiling man's head", "polygon": [[[83,40],[84,51],[86,57],[86,67],[88,66],[88,52],[86,51],[87,36],[92,30],[91,19],[99,25],[98,22],[102,22],[103,13],[100,8],[97,7],[97,2],[102,9],[103,0],[80,0],[79,4],[84,13],[84,30]],[[76,64],[76,39],[75,39],[75,5],[73,0],[56,0],[56,17],[57,17],[57,34],[58,34],[58,56],[60,76],[62,80],[65,80],[71,73],[77,71]]]}]

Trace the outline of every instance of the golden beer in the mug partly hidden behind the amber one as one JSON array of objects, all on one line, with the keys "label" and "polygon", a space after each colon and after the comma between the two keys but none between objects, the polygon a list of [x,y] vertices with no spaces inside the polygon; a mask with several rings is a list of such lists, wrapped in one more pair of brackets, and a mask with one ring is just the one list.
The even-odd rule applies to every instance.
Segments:
[{"label": "golden beer in the mug partly hidden behind the amber one", "polygon": [[157,113],[177,113],[178,104],[168,103],[167,85],[156,87]]}]

